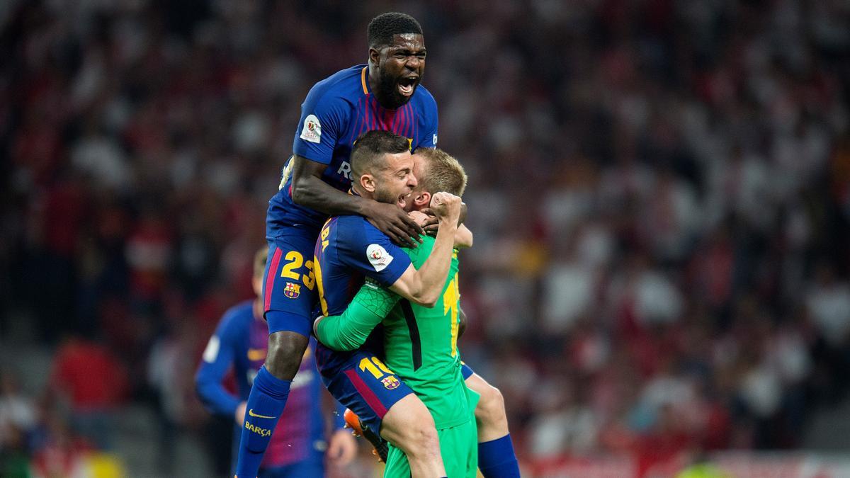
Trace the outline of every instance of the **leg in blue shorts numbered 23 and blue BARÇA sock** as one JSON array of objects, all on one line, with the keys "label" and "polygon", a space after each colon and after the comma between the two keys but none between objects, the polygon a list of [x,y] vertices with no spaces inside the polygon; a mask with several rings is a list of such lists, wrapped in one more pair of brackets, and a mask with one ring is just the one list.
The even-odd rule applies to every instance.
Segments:
[{"label": "leg in blue shorts numbered 23 and blue BAR\u00c7A sock", "polygon": [[292,378],[309,344],[315,301],[311,233],[269,243],[263,276],[263,307],[269,322],[269,350],[254,378],[236,464],[237,477],[257,475],[275,425],[286,407]]}]

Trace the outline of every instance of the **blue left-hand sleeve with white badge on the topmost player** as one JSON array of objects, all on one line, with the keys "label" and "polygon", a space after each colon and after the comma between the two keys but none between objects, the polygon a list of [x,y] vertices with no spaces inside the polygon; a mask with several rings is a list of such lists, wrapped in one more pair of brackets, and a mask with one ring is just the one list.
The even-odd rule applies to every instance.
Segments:
[{"label": "blue left-hand sleeve with white badge on the topmost player", "polygon": [[311,89],[301,105],[292,151],[311,161],[330,164],[348,111],[348,103],[339,96],[324,88]]}]

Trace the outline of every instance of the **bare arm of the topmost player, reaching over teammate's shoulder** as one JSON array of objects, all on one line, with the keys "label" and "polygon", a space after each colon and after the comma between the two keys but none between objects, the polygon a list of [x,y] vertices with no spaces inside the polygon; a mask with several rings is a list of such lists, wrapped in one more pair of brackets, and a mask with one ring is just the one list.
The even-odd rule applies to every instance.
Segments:
[{"label": "bare arm of the topmost player, reaching over teammate's shoulder", "polygon": [[321,179],[327,166],[303,156],[292,158],[292,201],[329,215],[359,214],[393,242],[415,248],[422,227],[394,204],[346,194]]}]

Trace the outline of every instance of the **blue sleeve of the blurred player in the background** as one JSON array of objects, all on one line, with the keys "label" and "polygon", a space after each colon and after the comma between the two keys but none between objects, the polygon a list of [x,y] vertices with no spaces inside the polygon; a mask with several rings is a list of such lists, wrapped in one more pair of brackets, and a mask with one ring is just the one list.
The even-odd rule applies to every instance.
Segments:
[{"label": "blue sleeve of the blurred player in the background", "polygon": [[224,389],[224,374],[233,365],[238,324],[235,316],[224,316],[207,342],[201,365],[195,373],[195,391],[210,413],[233,417],[240,400]]}]

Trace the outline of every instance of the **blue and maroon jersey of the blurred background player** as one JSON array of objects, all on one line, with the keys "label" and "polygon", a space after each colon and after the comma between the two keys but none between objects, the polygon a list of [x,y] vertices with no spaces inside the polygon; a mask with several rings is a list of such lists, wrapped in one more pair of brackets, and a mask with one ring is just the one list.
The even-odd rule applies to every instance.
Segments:
[{"label": "blue and maroon jersey of the blurred background player", "polygon": [[[225,312],[207,343],[195,378],[201,401],[210,412],[233,417],[236,406],[240,401],[246,401],[251,392],[253,379],[265,361],[268,344],[269,328],[262,318],[254,316],[253,301],[247,300]],[[280,415],[275,434],[263,457],[263,469],[301,461],[325,440],[324,421],[319,406],[321,384],[313,360],[314,350],[315,339],[311,339],[301,367],[292,380],[286,409]],[[230,367],[234,373],[237,396],[230,395],[222,384]],[[242,426],[248,425],[243,422]],[[254,429],[249,431],[259,435],[269,433],[267,429]],[[240,433],[241,429],[236,425],[236,444],[239,443]]]}]

